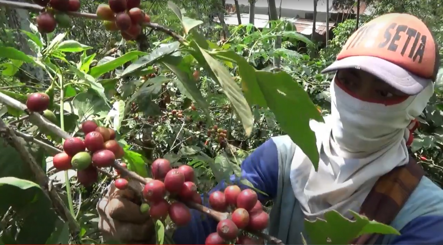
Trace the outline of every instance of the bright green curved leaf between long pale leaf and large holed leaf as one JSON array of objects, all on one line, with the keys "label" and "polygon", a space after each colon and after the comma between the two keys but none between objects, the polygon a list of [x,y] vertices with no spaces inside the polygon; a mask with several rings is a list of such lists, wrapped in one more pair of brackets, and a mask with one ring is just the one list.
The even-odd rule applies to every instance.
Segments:
[{"label": "bright green curved leaf between long pale leaf and large holed leaf", "polygon": [[260,107],[268,107],[263,93],[257,83],[256,69],[249,65],[248,61],[233,51],[218,51],[217,57],[233,60],[238,65],[238,74],[241,77],[241,88],[250,105],[257,104]]}]

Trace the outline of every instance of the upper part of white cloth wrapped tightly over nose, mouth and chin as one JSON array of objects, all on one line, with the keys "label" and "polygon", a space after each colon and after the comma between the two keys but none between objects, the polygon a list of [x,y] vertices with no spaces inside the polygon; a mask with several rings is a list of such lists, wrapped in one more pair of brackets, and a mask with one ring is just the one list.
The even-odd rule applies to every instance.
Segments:
[{"label": "upper part of white cloth wrapped tightly over nose, mouth and chin", "polygon": [[386,106],[358,100],[333,82],[330,86],[332,140],[345,155],[357,156],[371,154],[399,142],[411,120],[426,107],[432,92],[431,84],[417,96]]}]

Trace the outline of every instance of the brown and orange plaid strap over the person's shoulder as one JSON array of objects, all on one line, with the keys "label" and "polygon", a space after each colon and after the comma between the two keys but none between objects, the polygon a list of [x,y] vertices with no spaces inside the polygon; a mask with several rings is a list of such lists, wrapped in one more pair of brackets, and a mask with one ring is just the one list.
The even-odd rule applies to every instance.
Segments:
[{"label": "brown and orange plaid strap over the person's shoulder", "polygon": [[[361,205],[360,214],[370,220],[389,225],[420,183],[424,170],[412,157],[409,163],[392,169],[377,180]],[[365,234],[350,242],[354,245],[374,244],[380,234]]]}]

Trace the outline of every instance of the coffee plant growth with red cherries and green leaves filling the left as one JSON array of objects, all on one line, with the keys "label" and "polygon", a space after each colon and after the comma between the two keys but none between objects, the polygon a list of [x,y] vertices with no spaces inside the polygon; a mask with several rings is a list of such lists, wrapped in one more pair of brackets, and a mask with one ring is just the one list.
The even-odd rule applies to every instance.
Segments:
[{"label": "coffee plant growth with red cherries and green leaves filling the left", "polygon": [[[229,40],[212,42],[202,34],[212,27],[172,1],[167,7],[175,19],[165,18],[170,27],[154,23],[159,15],[148,15],[140,0],[109,0],[95,6],[95,14],[82,12],[90,8],[79,0],[34,2],[0,0],[2,7],[38,13],[31,31],[22,31],[36,55],[0,45],[0,77],[16,83],[0,88],[4,244],[103,244],[93,210],[111,181],[137,193],[158,244],[172,244],[190,209],[218,221],[206,244],[283,244],[266,232],[272,203],[260,203],[261,191],[248,181],[206,193],[239,176],[249,149],[270,132],[288,134],[318,163],[309,121],[323,121],[327,111],[326,77],[311,74],[324,64],[282,48],[273,55],[297,61],[281,71],[264,69],[268,40],[281,35],[311,46],[308,38],[246,25],[231,28]],[[99,23],[112,37],[109,50],[68,39],[78,31],[76,19]],[[58,28],[64,32],[54,34]],[[151,32],[155,48],[133,48]],[[43,78],[23,72],[24,65],[41,69]],[[350,221],[331,211],[325,220],[306,221],[309,241],[346,244],[364,233],[398,234],[354,215]],[[330,225],[337,222],[355,229]]]}]

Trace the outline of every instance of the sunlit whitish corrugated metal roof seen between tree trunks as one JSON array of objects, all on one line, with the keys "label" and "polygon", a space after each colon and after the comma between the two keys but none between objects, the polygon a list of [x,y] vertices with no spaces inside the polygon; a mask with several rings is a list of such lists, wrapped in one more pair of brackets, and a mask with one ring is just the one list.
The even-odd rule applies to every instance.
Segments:
[{"label": "sunlit whitish corrugated metal roof seen between tree trunks", "polygon": [[[249,14],[240,14],[241,23],[249,23]],[[268,26],[269,16],[268,15],[254,15],[254,26],[257,28],[263,28]],[[310,19],[289,19],[281,18],[290,21],[294,24],[295,30],[301,34],[311,35],[313,22]],[[216,17],[214,21],[220,23],[219,19]],[[225,23],[228,25],[238,25],[237,13],[229,13],[225,15]],[[335,26],[334,22],[329,22],[329,30]],[[316,32],[320,35],[326,33],[326,23],[325,22],[315,22]]]}]

